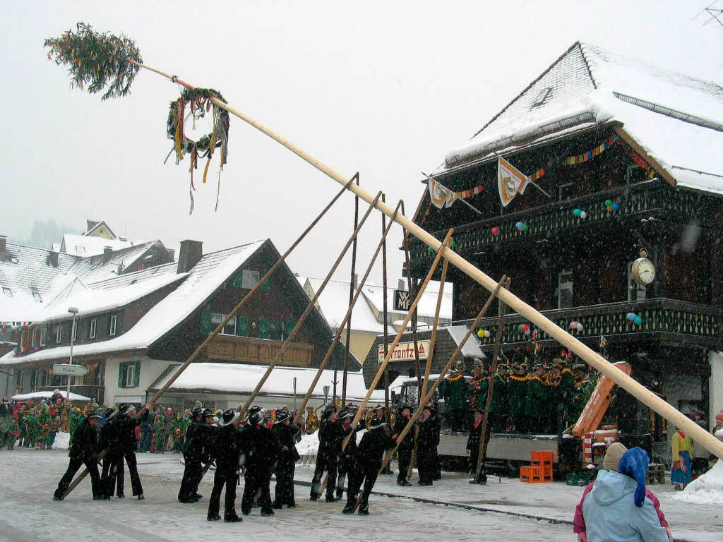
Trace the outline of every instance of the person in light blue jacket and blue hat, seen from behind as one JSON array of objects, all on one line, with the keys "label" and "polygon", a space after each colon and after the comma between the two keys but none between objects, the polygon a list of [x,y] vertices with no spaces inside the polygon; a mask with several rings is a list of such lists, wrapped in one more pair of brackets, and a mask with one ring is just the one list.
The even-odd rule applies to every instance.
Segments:
[{"label": "person in light blue jacket and blue hat, seen from behind", "polygon": [[653,503],[645,496],[649,457],[631,448],[619,472],[601,470],[583,503],[588,542],[668,542]]}]

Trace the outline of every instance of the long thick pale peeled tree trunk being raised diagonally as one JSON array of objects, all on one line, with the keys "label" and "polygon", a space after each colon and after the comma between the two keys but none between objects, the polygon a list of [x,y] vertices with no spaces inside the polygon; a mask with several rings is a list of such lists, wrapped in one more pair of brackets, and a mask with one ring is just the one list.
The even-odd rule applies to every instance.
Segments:
[{"label": "long thick pale peeled tree trunk being raised diagonally", "polygon": [[[163,73],[158,69],[150,68],[150,66],[145,66],[143,64],[139,65],[144,68],[151,69],[151,71],[161,74],[163,77],[166,77],[168,79],[174,81],[178,80],[175,76]],[[317,168],[319,171],[324,173],[326,176],[332,178],[334,181],[340,184],[348,183],[346,177],[341,175],[341,173],[338,173],[325,163],[317,160],[317,158],[309,155],[309,153],[301,150],[300,147],[297,147],[288,139],[281,137],[281,135],[276,134],[267,126],[264,126],[256,119],[253,119],[251,116],[242,113],[241,111],[232,106],[229,106],[227,103],[223,103],[217,98],[211,98],[211,102],[218,107],[226,109],[226,111],[238,117],[242,121],[247,122],[251,126],[254,126],[254,128],[259,130],[263,134],[266,134],[268,137],[273,139],[275,142],[278,142],[280,145],[283,145],[291,152],[294,152],[294,154],[301,158],[301,160],[304,160],[313,167]],[[354,194],[359,196],[361,199],[364,199],[364,201],[367,203],[372,203],[372,201],[374,200],[372,194],[369,194],[360,186],[354,186],[353,184],[351,184],[348,186],[348,189],[351,192],[354,192]],[[392,215],[392,207],[386,205],[385,203],[377,202],[375,204],[375,207],[377,207],[378,210],[385,213],[385,215],[387,216]],[[397,223],[401,224],[403,228],[406,228],[410,233],[412,233],[416,238],[418,238],[427,246],[430,246],[432,249],[435,249],[437,251],[441,250],[440,247],[442,246],[442,243],[440,243],[439,239],[435,238],[435,236],[432,236],[431,233],[424,231],[424,229],[422,229],[419,225],[416,225],[412,220],[409,220],[405,216],[399,215],[397,215],[394,220]],[[456,252],[452,250],[446,251],[445,258],[449,259],[450,263],[457,267],[458,270],[469,276],[479,285],[482,285],[482,287],[487,289],[487,291],[494,290],[495,281]],[[709,432],[703,429],[701,426],[698,426],[698,424],[688,418],[688,416],[680,413],[662,398],[656,396],[653,392],[647,390],[641,384],[638,384],[635,379],[629,377],[623,371],[620,371],[620,369],[617,369],[617,367],[615,367],[605,358],[600,356],[599,353],[596,353],[594,350],[589,348],[589,346],[584,345],[576,337],[570,335],[567,331],[563,330],[562,327],[555,324],[555,322],[552,322],[552,320],[545,317],[544,314],[534,309],[534,307],[526,304],[524,301],[522,301],[510,291],[500,291],[500,299],[506,304],[508,304],[508,306],[510,306],[513,311],[520,314],[521,317],[528,319],[531,324],[534,324],[536,327],[538,327],[541,332],[545,332],[547,333],[547,335],[557,340],[557,342],[560,343],[563,348],[568,348],[571,352],[575,353],[577,356],[585,360],[589,365],[593,366],[597,371],[604,374],[606,377],[609,377],[609,379],[615,382],[615,384],[630,392],[630,394],[636,397],[636,399],[638,399],[639,401],[641,401],[641,403],[644,403],[649,408],[655,410],[656,413],[667,419],[667,421],[675,425],[677,428],[683,429],[685,433],[690,434],[690,438],[701,444],[709,452],[713,453],[720,459],[723,459],[723,442],[720,442],[718,439],[716,439],[715,436],[709,434]]]}]

